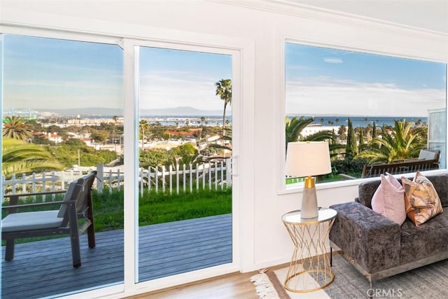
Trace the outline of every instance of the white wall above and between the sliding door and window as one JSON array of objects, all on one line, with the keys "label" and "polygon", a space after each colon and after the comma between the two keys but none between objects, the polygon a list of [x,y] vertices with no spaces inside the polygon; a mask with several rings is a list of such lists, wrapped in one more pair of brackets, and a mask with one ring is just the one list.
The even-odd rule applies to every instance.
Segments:
[{"label": "white wall above and between the sliding door and window", "polygon": [[[249,5],[255,1],[244,3]],[[260,7],[269,6],[265,1],[259,4]],[[190,33],[201,33],[223,39],[242,39],[254,45],[254,55],[245,59],[253,60],[255,67],[245,71],[251,73],[248,77],[253,76],[255,83],[249,92],[254,98],[246,100],[255,103],[256,117],[246,126],[253,128],[253,132],[241,132],[253,138],[251,146],[245,145],[246,151],[252,151],[251,157],[246,157],[253,159],[248,163],[253,164],[252,177],[246,179],[253,180],[255,186],[243,192],[252,193],[252,196],[241,198],[244,254],[240,270],[249,271],[290,259],[292,244],[281,223],[281,215],[300,208],[302,196],[301,193],[280,194],[277,187],[281,159],[276,144],[281,133],[279,119],[283,120],[277,113],[281,112],[283,101],[279,91],[282,85],[279,64],[282,64],[284,39],[448,62],[447,36],[321,12],[293,8],[288,8],[286,13],[281,8],[279,11],[281,13],[255,11],[214,1],[3,0],[0,21],[142,39],[163,38],[160,32],[169,32],[169,39],[172,36],[186,39]],[[243,65],[251,64],[244,62]],[[318,190],[318,201],[321,206],[328,207],[351,201],[356,193],[356,182],[351,186],[342,183],[335,188]]]}]

